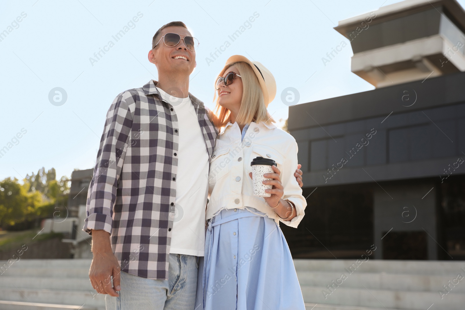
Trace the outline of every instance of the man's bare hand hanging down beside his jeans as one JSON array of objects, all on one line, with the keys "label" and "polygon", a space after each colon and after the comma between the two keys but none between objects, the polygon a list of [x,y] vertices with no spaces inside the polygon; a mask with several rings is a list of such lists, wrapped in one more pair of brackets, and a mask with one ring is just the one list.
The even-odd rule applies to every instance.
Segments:
[{"label": "man's bare hand hanging down beside his jeans", "polygon": [[92,287],[100,294],[118,297],[117,291],[121,290],[120,264],[113,254],[108,232],[92,230],[92,253],[93,259],[89,271]]}]

